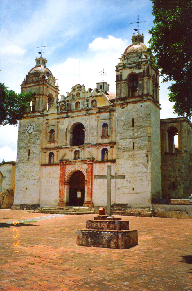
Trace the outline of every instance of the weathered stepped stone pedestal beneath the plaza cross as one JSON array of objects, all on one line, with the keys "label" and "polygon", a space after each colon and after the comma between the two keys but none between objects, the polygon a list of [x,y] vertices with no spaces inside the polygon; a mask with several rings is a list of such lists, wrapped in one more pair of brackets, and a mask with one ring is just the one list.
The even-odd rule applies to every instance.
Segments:
[{"label": "weathered stepped stone pedestal beneath the plaza cross", "polygon": [[77,245],[110,249],[129,249],[138,243],[137,230],[129,230],[129,221],[98,215],[86,221],[86,229],[77,230]]}]

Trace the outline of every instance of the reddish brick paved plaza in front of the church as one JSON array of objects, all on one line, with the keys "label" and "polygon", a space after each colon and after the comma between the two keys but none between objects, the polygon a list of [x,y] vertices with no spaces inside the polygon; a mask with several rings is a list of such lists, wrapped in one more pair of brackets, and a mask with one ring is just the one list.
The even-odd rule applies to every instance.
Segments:
[{"label": "reddish brick paved plaza in front of the church", "polygon": [[121,216],[138,230],[137,246],[77,246],[76,229],[93,217],[0,209],[0,290],[192,290],[192,220]]}]

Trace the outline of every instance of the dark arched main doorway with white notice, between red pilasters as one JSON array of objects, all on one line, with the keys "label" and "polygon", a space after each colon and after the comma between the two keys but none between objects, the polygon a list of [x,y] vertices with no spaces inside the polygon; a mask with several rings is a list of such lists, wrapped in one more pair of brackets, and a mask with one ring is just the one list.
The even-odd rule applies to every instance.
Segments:
[{"label": "dark arched main doorway with white notice, between red pilasters", "polygon": [[85,176],[81,171],[75,171],[69,181],[69,206],[83,206],[84,200]]}]

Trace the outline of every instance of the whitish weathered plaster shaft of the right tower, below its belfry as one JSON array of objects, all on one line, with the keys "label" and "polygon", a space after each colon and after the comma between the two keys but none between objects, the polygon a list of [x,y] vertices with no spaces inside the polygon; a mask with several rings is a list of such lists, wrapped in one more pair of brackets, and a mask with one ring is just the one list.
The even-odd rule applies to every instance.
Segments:
[{"label": "whitish weathered plaster shaft of the right tower, below its belfry", "polygon": [[[151,102],[127,104],[116,107],[116,173],[125,175],[125,181],[116,181],[116,203],[127,203],[132,205],[150,205],[152,191],[160,192],[159,182],[157,188],[152,189],[151,184],[152,168],[151,163],[159,165],[157,172],[153,175],[160,180],[159,157],[155,162],[151,161],[149,150],[153,151],[159,147],[157,142],[149,147],[148,141],[154,133],[159,131],[158,121],[155,125],[148,123],[157,117],[156,110]],[[132,127],[134,118],[134,127]],[[154,126],[151,130],[150,128]],[[157,127],[157,128],[155,128]],[[150,136],[149,136],[150,132]],[[134,149],[133,149],[134,142]],[[147,155],[148,153],[148,155]]]}]

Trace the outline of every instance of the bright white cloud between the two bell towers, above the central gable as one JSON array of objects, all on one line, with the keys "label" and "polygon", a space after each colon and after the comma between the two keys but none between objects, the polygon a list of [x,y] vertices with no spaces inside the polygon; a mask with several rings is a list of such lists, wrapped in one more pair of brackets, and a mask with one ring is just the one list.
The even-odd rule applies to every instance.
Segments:
[{"label": "bright white cloud between the two bell towers, above the central gable", "polygon": [[[80,58],[81,85],[84,84],[86,90],[94,89],[96,82],[102,81],[100,70],[105,68],[108,72],[105,81],[110,84],[109,90],[115,92],[115,65],[118,64],[117,58],[120,58],[127,46],[127,40],[114,36],[98,37],[89,43],[87,52]],[[67,61],[53,65],[49,69],[58,79],[60,94],[66,96],[66,92],[70,92],[72,86],[79,84],[79,59],[68,58]]]}]

